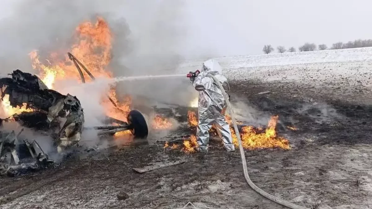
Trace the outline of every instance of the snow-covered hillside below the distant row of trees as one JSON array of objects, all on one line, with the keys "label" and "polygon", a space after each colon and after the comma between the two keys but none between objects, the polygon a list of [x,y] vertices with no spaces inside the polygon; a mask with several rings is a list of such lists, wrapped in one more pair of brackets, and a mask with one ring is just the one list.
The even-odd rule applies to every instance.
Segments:
[{"label": "snow-covered hillside below the distant row of trees", "polygon": [[[230,80],[311,80],[367,78],[372,47],[216,58]],[[183,62],[178,71],[199,69],[203,60]]]}]

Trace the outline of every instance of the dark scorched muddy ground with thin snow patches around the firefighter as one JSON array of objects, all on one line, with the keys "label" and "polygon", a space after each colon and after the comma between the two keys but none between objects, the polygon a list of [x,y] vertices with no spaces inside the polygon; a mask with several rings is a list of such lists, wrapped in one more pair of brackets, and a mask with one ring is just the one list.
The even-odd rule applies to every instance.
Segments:
[{"label": "dark scorched muddy ground with thin snow patches around the firefighter", "polygon": [[[232,81],[238,99],[263,115],[278,114],[278,133],[291,150],[246,151],[252,181],[307,208],[372,205],[371,91],[363,86]],[[271,91],[269,94],[258,94]],[[260,116],[257,116],[260,117]],[[291,131],[286,126],[295,126]],[[187,131],[182,133],[189,134]],[[169,136],[156,140],[177,140]],[[57,168],[1,177],[0,208],[284,208],[244,180],[239,152],[211,142],[208,154],[163,149],[164,142],[71,157]],[[166,159],[185,164],[148,173],[133,167]],[[125,200],[119,200],[124,196]]]}]

